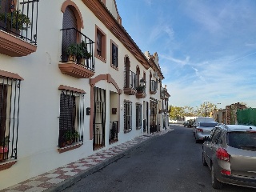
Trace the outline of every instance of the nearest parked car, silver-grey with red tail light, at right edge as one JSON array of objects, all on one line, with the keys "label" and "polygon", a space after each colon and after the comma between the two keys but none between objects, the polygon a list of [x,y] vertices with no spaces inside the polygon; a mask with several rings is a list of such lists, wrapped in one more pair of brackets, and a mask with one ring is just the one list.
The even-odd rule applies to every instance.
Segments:
[{"label": "nearest parked car, silver-grey with red tail light, at right edge", "polygon": [[202,145],[202,164],[214,189],[222,183],[256,188],[256,126],[216,126]]}]

